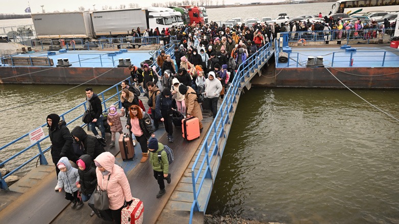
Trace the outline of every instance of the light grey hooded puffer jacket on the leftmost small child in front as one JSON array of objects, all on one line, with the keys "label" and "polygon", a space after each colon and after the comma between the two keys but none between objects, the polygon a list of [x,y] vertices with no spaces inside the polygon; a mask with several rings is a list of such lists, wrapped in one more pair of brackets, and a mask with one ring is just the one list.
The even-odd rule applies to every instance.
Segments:
[{"label": "light grey hooded puffer jacket on the leftmost small child in front", "polygon": [[58,173],[57,187],[64,188],[65,192],[71,194],[79,190],[76,186],[76,182],[79,182],[78,169],[72,167],[71,163],[69,163],[69,160],[66,157],[61,157],[58,163],[63,163],[66,166],[66,172],[60,171]]}]

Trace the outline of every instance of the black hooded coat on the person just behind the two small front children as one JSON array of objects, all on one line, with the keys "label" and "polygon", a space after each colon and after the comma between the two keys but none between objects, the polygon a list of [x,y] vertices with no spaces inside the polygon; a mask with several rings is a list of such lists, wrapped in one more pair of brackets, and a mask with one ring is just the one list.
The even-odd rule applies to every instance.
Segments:
[{"label": "black hooded coat on the person just behind the two small front children", "polygon": [[98,155],[105,152],[99,140],[95,136],[88,135],[82,127],[76,126],[71,134],[79,138],[79,143],[83,143],[84,146],[84,154],[89,155],[91,158],[96,158]]}]

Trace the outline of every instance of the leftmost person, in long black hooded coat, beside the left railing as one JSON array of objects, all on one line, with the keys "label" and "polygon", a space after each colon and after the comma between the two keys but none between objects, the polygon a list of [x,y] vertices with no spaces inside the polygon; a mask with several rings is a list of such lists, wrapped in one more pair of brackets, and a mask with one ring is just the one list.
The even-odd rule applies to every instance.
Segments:
[{"label": "leftmost person, in long black hooded coat, beside the left railing", "polygon": [[[60,121],[60,116],[58,116],[58,114],[49,114],[46,118],[46,122],[47,127],[49,127],[49,137],[52,144],[51,158],[55,165],[58,178],[60,169],[58,169],[57,163],[61,157],[67,157],[73,162],[78,160],[72,147],[74,139],[72,138],[71,132],[69,132],[69,129],[66,127],[66,122],[64,120]],[[56,187],[55,190],[57,191],[58,187]]]}]

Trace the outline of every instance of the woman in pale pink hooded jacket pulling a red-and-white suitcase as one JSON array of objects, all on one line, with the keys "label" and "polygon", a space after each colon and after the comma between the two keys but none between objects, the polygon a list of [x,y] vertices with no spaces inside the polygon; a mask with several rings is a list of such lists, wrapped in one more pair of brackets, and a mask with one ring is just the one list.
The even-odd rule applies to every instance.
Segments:
[{"label": "woman in pale pink hooded jacket pulling a red-and-white suitcase", "polygon": [[113,220],[121,223],[121,211],[125,201],[128,205],[133,202],[125,172],[122,167],[115,165],[115,157],[109,152],[100,154],[94,162],[97,166],[97,183],[102,190],[107,191]]}]

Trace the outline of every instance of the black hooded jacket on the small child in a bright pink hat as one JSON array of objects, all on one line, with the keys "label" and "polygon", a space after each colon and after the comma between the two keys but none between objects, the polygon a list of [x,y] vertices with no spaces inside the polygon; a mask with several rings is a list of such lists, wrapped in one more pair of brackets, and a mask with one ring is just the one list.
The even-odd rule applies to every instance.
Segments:
[{"label": "black hooded jacket on the small child in a bright pink hat", "polygon": [[80,191],[85,195],[90,195],[97,185],[96,169],[91,166],[93,159],[89,155],[82,155],[79,159],[86,165],[84,170],[78,169]]}]

